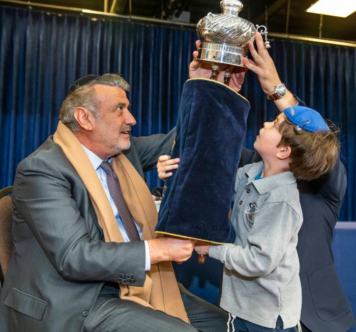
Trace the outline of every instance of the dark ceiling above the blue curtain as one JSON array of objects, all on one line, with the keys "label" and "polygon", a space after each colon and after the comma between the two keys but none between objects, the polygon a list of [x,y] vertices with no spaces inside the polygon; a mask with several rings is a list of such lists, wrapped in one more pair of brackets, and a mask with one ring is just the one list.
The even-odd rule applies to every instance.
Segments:
[{"label": "dark ceiling above the blue curtain", "polygon": [[[104,10],[104,0],[35,0],[35,2]],[[186,20],[188,18],[190,23],[196,23],[209,12],[220,13],[220,0],[107,0],[107,2],[108,10],[114,2],[113,12],[122,15],[130,14],[130,3],[131,15],[135,16],[179,20],[175,16],[180,16],[184,11],[180,17],[185,17]],[[242,0],[244,9],[240,16],[254,24],[267,23],[270,32],[319,37],[320,15],[306,12],[313,2],[316,0]],[[289,24],[286,31],[288,12]],[[323,15],[321,37],[356,41],[356,12],[346,18]]]}]

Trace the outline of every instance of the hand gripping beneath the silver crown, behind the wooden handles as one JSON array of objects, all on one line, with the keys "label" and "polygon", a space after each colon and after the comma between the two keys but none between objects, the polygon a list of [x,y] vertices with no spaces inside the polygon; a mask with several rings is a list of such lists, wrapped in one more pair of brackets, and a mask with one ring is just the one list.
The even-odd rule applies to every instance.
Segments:
[{"label": "hand gripping beneath the silver crown, behind the wooden handles", "polygon": [[[200,47],[200,40],[195,42],[196,49]],[[210,78],[212,76],[212,64],[205,61],[197,60],[198,51],[193,52],[193,61],[189,65],[189,78]],[[224,73],[227,65],[221,64],[217,81],[224,82]],[[234,67],[231,72],[229,87],[236,92],[241,90],[241,86],[245,79],[245,74],[248,69]]]}]

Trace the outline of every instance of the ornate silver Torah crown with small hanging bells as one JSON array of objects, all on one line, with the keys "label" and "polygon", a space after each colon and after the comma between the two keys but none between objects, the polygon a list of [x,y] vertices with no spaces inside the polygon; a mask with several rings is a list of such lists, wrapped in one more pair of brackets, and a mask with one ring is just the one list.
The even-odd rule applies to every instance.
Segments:
[{"label": "ornate silver Torah crown with small hanging bells", "polygon": [[[248,42],[255,40],[256,28],[239,17],[243,7],[239,0],[222,0],[221,14],[209,13],[197,23],[196,31],[201,41],[198,59],[245,67],[243,58],[248,54]],[[265,46],[269,48],[266,29],[264,33]]]}]

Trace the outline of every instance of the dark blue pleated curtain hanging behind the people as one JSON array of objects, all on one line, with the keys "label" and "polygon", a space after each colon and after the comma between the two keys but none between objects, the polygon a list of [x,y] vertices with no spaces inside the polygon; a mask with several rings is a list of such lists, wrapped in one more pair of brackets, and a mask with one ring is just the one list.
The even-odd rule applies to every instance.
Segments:
[{"label": "dark blue pleated curtain hanging behind the people", "polygon": [[[174,126],[194,31],[5,7],[0,21],[0,187],[12,184],[17,163],[55,131],[68,87],[86,74],[121,73],[131,84],[134,135]],[[356,49],[275,40],[270,52],[288,89],[341,126],[348,187],[340,220],[356,220]],[[275,107],[253,73],[242,94],[251,102],[245,145],[252,148]],[[153,172],[147,178],[151,188],[160,184]]]}]

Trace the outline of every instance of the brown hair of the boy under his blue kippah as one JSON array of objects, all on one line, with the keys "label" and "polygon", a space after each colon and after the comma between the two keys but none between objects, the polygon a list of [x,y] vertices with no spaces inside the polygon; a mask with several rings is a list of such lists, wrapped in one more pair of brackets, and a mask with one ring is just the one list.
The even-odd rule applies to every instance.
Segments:
[{"label": "brown hair of the boy under his blue kippah", "polygon": [[278,125],[282,139],[277,147],[291,148],[289,171],[296,179],[310,181],[333,169],[340,152],[339,130],[334,127],[329,126],[330,131],[296,130],[288,119]]}]

